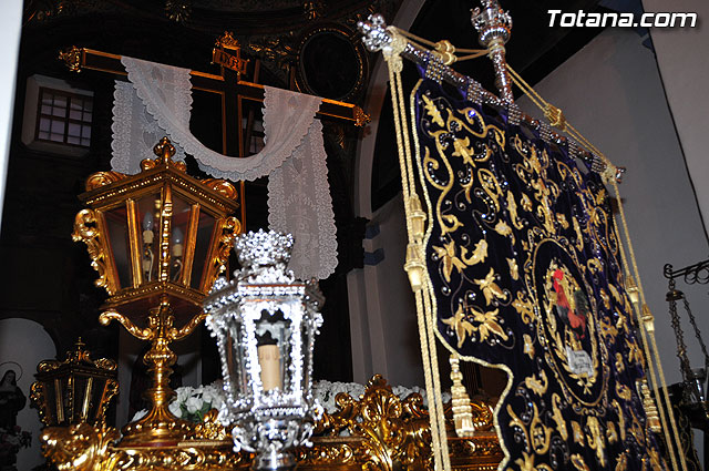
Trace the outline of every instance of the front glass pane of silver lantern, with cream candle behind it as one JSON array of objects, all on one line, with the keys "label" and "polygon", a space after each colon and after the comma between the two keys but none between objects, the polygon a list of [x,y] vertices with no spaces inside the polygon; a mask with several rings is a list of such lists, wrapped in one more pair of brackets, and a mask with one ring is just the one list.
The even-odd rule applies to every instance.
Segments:
[{"label": "front glass pane of silver lantern, with cream candle behind it", "polygon": [[290,375],[286,375],[291,359],[290,324],[280,309],[274,313],[264,309],[260,319],[256,321],[256,345],[264,391],[291,389]]}]

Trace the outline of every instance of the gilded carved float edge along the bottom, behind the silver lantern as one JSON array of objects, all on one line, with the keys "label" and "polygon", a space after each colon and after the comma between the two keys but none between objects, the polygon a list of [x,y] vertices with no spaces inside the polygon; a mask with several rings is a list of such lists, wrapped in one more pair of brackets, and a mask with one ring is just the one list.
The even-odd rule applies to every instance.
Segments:
[{"label": "gilded carved float edge along the bottom, behind the silver lantern", "polygon": [[[420,395],[401,399],[377,375],[360,398],[340,392],[336,405],[336,412],[325,413],[316,423],[312,447],[295,450],[299,469],[433,470],[429,414]],[[476,430],[469,438],[455,437],[452,410],[446,409],[451,464],[455,470],[495,470],[503,454],[493,431],[492,405],[477,400],[471,407]],[[216,410],[175,446],[121,446],[119,437],[115,429],[89,424],[48,428],[43,452],[60,471],[246,470],[253,459],[250,453],[233,451],[232,437],[217,421]]]}]

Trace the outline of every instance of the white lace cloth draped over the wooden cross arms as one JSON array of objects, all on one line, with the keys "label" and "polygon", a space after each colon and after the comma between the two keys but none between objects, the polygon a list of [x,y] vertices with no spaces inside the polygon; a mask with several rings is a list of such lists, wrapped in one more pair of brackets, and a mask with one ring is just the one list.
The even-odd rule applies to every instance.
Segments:
[{"label": "white lace cloth draped over the wooden cross arms", "polygon": [[205,172],[219,178],[269,175],[270,228],[295,236],[289,268],[299,278],[327,278],[337,266],[332,199],[327,181],[322,126],[315,120],[317,96],[265,88],[265,146],[245,158],[205,147],[189,131],[192,84],[186,69],[122,58],[130,83],[116,82],[113,116],[113,170],[137,173],[140,162],[167,135]]}]

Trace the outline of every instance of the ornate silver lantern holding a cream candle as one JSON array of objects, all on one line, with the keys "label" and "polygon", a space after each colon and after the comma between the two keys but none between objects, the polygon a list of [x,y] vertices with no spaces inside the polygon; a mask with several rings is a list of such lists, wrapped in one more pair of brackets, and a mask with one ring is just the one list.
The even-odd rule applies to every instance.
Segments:
[{"label": "ornate silver lantern holding a cream candle", "polygon": [[295,467],[288,449],[310,444],[321,408],[312,396],[312,345],[323,303],[317,281],[287,269],[292,236],[259,231],[236,244],[242,269],[217,279],[205,299],[206,324],[222,358],[235,449],[257,453],[256,470]]}]

